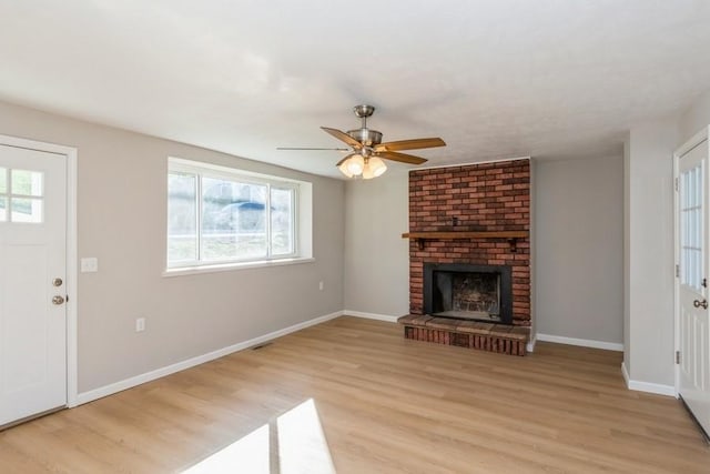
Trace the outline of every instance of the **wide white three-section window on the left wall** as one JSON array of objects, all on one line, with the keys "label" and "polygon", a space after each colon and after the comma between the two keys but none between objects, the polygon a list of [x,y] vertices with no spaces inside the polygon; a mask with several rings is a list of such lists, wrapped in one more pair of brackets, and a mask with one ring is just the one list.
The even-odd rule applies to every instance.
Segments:
[{"label": "wide white three-section window on the left wall", "polygon": [[168,169],[169,270],[310,256],[298,222],[307,183],[175,158]]}]

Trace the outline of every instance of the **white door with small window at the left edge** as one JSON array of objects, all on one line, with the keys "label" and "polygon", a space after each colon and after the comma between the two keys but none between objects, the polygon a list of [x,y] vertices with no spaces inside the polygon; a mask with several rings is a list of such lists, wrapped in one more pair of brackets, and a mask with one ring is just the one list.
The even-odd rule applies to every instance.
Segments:
[{"label": "white door with small window at the left edge", "polygon": [[67,404],[67,157],[0,145],[0,426]]}]

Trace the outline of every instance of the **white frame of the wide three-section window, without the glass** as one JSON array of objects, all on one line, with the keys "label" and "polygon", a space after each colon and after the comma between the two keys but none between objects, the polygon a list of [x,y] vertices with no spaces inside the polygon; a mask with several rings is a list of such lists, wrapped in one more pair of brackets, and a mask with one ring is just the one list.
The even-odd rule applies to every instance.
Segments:
[{"label": "white frame of the wide three-section window, without the glass", "polygon": [[[195,253],[194,260],[182,260],[171,262],[169,259],[170,249],[170,195],[169,181],[170,175],[174,173],[185,173],[195,177]],[[301,248],[301,199],[303,184],[301,181],[290,180],[286,178],[273,177],[267,174],[255,173],[236,168],[227,168],[217,164],[184,160],[181,158],[169,157],[168,170],[165,174],[165,272],[164,275],[184,274],[207,271],[224,271],[241,268],[267,266],[274,264],[300,263],[302,261],[312,261],[310,256],[304,255]],[[256,184],[266,186],[266,202],[264,203],[266,215],[264,218],[266,229],[266,255],[255,258],[224,258],[215,260],[204,260],[203,255],[203,179],[216,179],[241,184]],[[291,236],[292,252],[273,253],[273,235],[272,235],[272,210],[271,199],[272,189],[288,190],[292,192],[292,211],[291,211]]]}]

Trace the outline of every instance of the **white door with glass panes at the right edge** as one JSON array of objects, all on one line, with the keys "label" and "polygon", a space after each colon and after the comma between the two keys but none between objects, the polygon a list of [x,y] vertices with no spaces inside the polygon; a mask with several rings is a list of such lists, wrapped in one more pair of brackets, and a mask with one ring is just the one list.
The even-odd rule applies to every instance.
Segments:
[{"label": "white door with glass panes at the right edge", "polygon": [[708,324],[708,140],[678,162],[679,393],[710,433],[710,324]]}]

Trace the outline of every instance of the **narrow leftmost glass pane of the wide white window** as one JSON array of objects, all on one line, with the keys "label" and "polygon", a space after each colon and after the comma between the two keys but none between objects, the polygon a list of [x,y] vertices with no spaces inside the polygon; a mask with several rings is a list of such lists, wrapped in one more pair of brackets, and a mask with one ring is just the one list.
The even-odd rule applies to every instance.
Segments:
[{"label": "narrow leftmost glass pane of the wide white window", "polygon": [[168,175],[168,262],[197,260],[197,178]]}]

